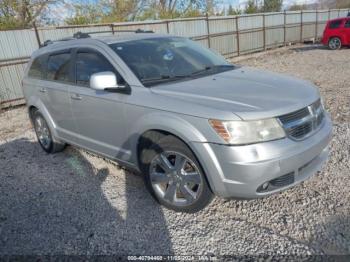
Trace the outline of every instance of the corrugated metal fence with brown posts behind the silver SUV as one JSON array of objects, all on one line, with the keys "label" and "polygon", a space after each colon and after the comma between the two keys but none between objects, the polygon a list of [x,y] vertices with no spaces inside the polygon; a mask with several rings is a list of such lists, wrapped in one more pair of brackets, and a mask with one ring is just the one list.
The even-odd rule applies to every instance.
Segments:
[{"label": "corrugated metal fence with brown posts behind the silver SUV", "polygon": [[120,30],[141,28],[192,38],[229,58],[306,39],[319,39],[327,20],[345,17],[349,11],[289,11],[0,31],[0,109],[24,103],[21,78],[25,65],[31,53],[49,39],[72,36],[78,31],[118,35]]}]

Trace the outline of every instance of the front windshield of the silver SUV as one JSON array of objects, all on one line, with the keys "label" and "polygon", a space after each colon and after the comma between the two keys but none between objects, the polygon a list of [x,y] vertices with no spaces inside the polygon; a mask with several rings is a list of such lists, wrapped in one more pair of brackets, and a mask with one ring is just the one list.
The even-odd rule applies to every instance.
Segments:
[{"label": "front windshield of the silver SUV", "polygon": [[145,86],[232,70],[223,57],[181,37],[141,39],[110,44]]}]

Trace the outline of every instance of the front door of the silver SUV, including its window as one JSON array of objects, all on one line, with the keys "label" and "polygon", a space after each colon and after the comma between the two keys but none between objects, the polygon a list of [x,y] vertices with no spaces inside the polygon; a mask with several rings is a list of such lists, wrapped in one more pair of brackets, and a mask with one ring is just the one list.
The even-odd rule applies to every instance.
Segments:
[{"label": "front door of the silver SUV, including its window", "polygon": [[127,160],[124,101],[127,94],[90,88],[94,73],[112,71],[121,84],[123,79],[111,62],[94,49],[75,50],[75,86],[69,90],[79,144],[111,158]]}]

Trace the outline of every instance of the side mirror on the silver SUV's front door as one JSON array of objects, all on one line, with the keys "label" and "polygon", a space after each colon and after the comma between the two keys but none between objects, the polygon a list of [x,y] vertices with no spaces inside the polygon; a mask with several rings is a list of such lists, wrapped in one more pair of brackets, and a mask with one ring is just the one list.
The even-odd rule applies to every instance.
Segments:
[{"label": "side mirror on the silver SUV's front door", "polygon": [[118,85],[116,75],[110,71],[92,74],[90,77],[90,87],[95,90],[109,91],[125,88],[125,86]]}]

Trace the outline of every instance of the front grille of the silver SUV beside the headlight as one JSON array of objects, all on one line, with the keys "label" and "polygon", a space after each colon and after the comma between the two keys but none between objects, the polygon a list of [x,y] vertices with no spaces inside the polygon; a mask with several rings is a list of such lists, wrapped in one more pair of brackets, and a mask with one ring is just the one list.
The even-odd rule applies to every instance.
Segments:
[{"label": "front grille of the silver SUV beside the headlight", "polygon": [[321,126],[324,110],[320,100],[295,112],[282,115],[279,120],[289,137],[301,140]]}]

